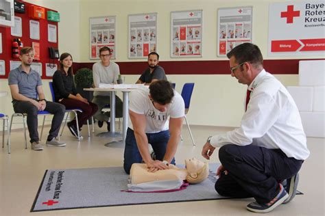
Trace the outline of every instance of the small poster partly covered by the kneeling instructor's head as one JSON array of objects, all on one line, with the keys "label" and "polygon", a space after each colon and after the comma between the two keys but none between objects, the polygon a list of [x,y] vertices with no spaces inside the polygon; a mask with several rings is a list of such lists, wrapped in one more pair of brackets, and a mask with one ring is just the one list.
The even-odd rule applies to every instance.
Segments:
[{"label": "small poster partly covered by the kneeling instructor's head", "polygon": [[217,55],[245,42],[252,42],[252,7],[219,8]]}]

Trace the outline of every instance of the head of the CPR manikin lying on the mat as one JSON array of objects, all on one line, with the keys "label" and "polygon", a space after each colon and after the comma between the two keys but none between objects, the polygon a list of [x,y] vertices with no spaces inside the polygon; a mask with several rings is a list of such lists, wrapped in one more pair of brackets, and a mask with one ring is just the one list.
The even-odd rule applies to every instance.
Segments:
[{"label": "head of the CPR manikin lying on the mat", "polygon": [[208,163],[199,161],[195,158],[185,160],[188,175],[186,180],[190,184],[202,183],[208,178]]}]

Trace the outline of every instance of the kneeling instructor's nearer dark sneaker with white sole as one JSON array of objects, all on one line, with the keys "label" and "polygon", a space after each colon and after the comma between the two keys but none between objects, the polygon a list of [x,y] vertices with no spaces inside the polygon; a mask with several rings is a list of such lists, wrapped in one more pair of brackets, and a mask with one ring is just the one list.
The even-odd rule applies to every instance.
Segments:
[{"label": "kneeling instructor's nearer dark sneaker with white sole", "polygon": [[278,195],[276,195],[273,200],[265,203],[265,204],[259,204],[258,202],[251,202],[246,207],[249,211],[252,211],[254,213],[268,213],[269,211],[272,211],[276,206],[280,205],[282,202],[284,202],[288,198],[287,191],[283,188],[281,184],[279,184],[280,191]]}]

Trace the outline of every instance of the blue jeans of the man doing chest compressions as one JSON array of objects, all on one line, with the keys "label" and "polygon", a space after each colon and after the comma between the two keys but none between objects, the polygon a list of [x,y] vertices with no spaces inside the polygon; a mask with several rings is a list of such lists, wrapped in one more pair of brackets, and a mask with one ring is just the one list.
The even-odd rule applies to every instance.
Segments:
[{"label": "blue jeans of the man doing chest compressions", "polygon": [[[163,161],[167,143],[169,141],[169,131],[161,131],[159,133],[146,133],[148,143],[152,145],[152,149],[156,154],[156,159]],[[142,163],[142,157],[139,152],[138,146],[136,145],[136,138],[134,131],[128,128],[125,138],[125,149],[124,149],[124,170],[127,174],[130,174],[131,166],[133,163]],[[175,159],[171,161],[171,164],[175,164]]]}]

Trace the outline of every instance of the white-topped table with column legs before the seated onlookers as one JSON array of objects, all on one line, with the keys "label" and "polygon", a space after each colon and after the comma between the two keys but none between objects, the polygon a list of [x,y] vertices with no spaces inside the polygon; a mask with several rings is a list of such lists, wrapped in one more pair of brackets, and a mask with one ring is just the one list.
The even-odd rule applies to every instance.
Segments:
[{"label": "white-topped table with column legs before the seated onlookers", "polygon": [[123,123],[122,123],[122,140],[110,141],[109,144],[124,144],[126,137],[126,130],[128,129],[128,109],[129,109],[129,92],[136,90],[136,87],[130,88],[112,88],[112,87],[90,87],[84,88],[85,91],[96,91],[96,92],[110,92],[110,132],[105,133],[104,137],[120,137],[120,133],[115,132],[115,92],[123,92]]}]

